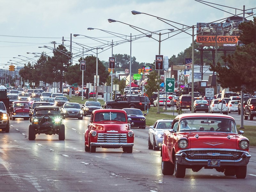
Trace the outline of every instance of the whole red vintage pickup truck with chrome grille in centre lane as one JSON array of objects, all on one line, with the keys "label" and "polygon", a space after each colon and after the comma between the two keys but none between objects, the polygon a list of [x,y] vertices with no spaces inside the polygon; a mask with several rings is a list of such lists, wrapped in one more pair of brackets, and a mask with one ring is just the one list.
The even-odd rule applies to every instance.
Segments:
[{"label": "whole red vintage pickup truck with chrome grille in centre lane", "polygon": [[91,153],[95,153],[97,147],[122,147],[124,152],[132,153],[134,134],[126,112],[122,109],[94,110],[84,140],[84,150]]}]

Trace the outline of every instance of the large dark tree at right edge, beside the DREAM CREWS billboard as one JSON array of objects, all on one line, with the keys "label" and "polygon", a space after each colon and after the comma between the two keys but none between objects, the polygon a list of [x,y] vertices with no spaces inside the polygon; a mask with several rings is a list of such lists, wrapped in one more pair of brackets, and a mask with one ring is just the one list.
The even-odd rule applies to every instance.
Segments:
[{"label": "large dark tree at right edge, beside the DREAM CREWS billboard", "polygon": [[239,37],[244,46],[237,46],[232,55],[223,57],[228,62],[227,67],[222,67],[220,63],[217,66],[211,64],[211,71],[216,71],[217,81],[221,87],[229,88],[231,91],[244,92],[255,91],[256,81],[256,18],[252,22],[244,22],[239,25],[243,34]]}]

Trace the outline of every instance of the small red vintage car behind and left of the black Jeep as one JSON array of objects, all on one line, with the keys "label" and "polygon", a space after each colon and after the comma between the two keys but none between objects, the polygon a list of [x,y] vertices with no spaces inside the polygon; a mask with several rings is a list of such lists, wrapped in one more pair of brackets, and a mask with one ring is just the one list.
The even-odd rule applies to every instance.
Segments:
[{"label": "small red vintage car behind and left of the black Jeep", "polygon": [[10,107],[10,119],[23,118],[24,120],[28,120],[28,114],[30,113],[29,107],[29,101],[13,101]]}]

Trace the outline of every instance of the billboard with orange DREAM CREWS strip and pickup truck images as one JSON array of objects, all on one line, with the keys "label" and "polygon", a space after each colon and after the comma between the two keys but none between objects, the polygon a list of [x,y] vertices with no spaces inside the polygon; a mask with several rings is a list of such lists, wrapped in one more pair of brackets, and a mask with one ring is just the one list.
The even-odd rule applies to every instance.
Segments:
[{"label": "billboard with orange DREAM CREWS strip and pickup truck images", "polygon": [[[246,18],[244,21],[249,22]],[[236,46],[242,22],[242,17],[231,16],[223,23],[197,23],[196,42],[201,46]]]}]

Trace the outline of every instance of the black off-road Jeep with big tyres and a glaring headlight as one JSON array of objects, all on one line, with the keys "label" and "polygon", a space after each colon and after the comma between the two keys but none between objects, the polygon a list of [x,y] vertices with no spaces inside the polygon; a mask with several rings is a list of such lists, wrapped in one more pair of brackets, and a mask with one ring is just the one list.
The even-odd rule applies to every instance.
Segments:
[{"label": "black off-road Jeep with big tyres and a glaring headlight", "polygon": [[58,134],[59,140],[65,140],[65,125],[62,124],[62,115],[59,107],[35,107],[30,113],[31,124],[28,127],[28,140],[35,140],[36,134]]}]

